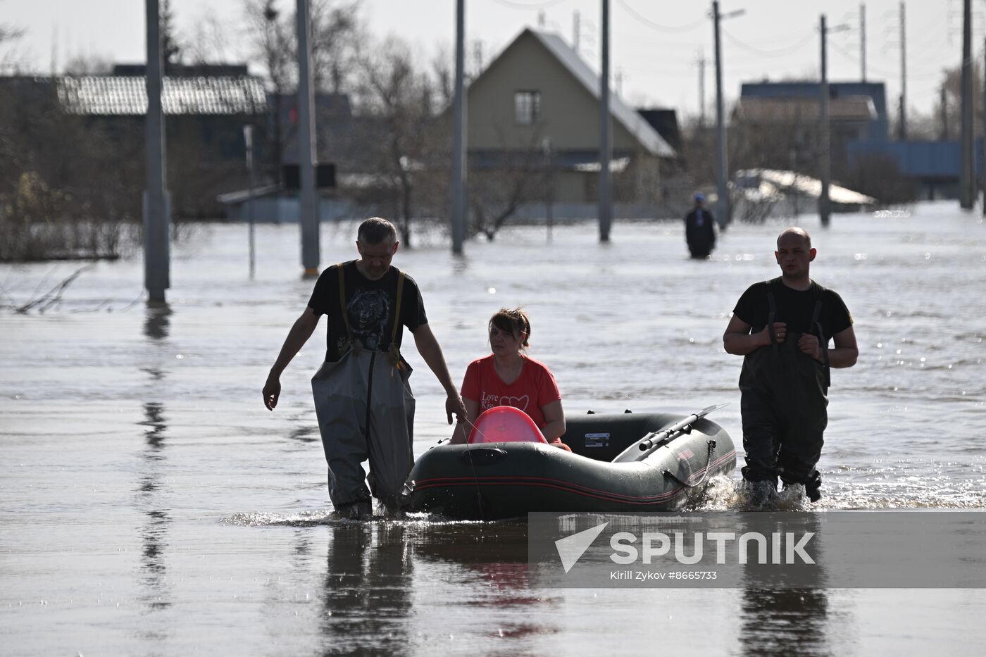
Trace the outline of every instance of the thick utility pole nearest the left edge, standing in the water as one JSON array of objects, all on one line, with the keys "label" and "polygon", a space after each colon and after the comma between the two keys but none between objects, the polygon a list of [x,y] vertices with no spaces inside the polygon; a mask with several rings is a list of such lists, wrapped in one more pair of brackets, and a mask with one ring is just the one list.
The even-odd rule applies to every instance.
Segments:
[{"label": "thick utility pole nearest the left edge, standing in the water", "polygon": [[165,116],[161,106],[161,14],[147,0],[147,117],[144,124],[144,287],[151,303],[164,303],[171,287],[171,198],[165,181]]}]

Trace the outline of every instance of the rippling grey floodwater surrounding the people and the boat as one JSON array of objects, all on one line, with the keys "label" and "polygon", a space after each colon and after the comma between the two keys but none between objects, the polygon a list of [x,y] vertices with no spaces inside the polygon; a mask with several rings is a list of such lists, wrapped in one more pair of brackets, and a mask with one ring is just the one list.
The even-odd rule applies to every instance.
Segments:
[{"label": "rippling grey floodwater surrounding the people and the boat", "polygon": [[[840,292],[860,359],[832,374],[819,464],[826,509],[986,509],[986,225],[954,203],[802,218],[813,277]],[[568,413],[713,416],[740,443],[739,357],[721,335],[747,285],[776,275],[780,223],[738,225],[710,261],[676,222],[508,229],[456,259],[420,236],[418,281],[453,377],[501,306]],[[323,266],[355,225],[322,228]],[[0,654],[981,654],[982,590],[539,589],[521,523],[334,520],[309,378],[317,333],[260,389],[313,281],[295,226],[200,229],[173,248],[167,308],[139,258],[99,262],[43,313],[0,311]],[[24,305],[76,263],[0,265]],[[448,435],[412,345],[415,452]],[[706,508],[736,504],[730,482]],[[816,507],[817,508],[817,507]],[[933,558],[933,555],[929,555]]]}]

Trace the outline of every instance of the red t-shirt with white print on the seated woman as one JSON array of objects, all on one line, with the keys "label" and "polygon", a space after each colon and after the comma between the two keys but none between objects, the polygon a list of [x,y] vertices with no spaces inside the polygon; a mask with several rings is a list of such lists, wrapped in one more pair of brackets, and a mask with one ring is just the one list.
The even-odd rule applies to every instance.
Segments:
[{"label": "red t-shirt with white print on the seated woman", "polygon": [[493,367],[493,354],[474,360],[465,368],[461,395],[463,399],[477,401],[479,412],[493,406],[520,408],[540,429],[547,424],[541,407],[561,399],[558,384],[544,363],[524,356],[521,376],[508,386]]}]

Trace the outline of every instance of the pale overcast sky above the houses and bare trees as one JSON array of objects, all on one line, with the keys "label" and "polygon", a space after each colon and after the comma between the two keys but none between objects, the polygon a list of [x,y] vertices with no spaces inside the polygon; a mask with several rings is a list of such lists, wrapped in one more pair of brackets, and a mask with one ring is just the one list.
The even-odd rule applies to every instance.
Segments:
[{"label": "pale overcast sky above the houses and bare trees", "polygon": [[[280,0],[291,11],[295,0]],[[579,15],[580,52],[599,70],[600,0],[465,0],[466,56],[481,43],[488,64],[525,27],[539,24],[571,43]],[[886,84],[895,114],[901,90],[899,0],[869,0],[866,7],[867,80]],[[936,111],[942,70],[961,57],[962,0],[907,0],[905,42],[907,105]],[[179,37],[210,19],[229,32],[229,55],[247,60],[244,0],[172,0]],[[613,88],[637,107],[670,107],[695,115],[700,107],[699,60],[704,57],[705,106],[714,116],[715,66],[712,3],[685,0],[610,0],[610,66]],[[858,81],[861,30],[859,0],[723,0],[721,12],[743,10],[722,22],[723,91],[727,103],[740,84],[763,79],[817,79],[819,16],[829,35],[830,81]],[[363,0],[372,35],[409,41],[427,62],[439,46],[452,51],[456,0]],[[982,57],[986,0],[973,0],[974,53]],[[142,0],[0,0],[0,24],[25,31],[16,54],[34,72],[59,71],[72,56],[110,61],[144,60]],[[841,28],[841,29],[840,29]],[[54,47],[53,47],[54,45]],[[248,60],[247,60],[247,63]],[[251,66],[259,73],[258,66]],[[9,72],[9,71],[8,71]]]}]

